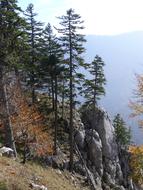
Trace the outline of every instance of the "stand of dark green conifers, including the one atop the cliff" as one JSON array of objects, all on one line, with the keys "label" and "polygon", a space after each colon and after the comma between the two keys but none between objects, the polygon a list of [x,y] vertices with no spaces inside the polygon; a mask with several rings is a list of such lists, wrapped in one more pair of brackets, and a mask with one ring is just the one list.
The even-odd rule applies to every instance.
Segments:
[{"label": "stand of dark green conifers, including the one atop the cliff", "polygon": [[[5,143],[15,150],[16,155],[11,117],[14,117],[15,112],[21,111],[17,110],[17,106],[22,104],[21,101],[24,103],[21,88],[25,87],[25,93],[29,93],[29,109],[38,102],[38,91],[45,88],[51,99],[51,112],[54,113],[55,118],[55,154],[57,151],[58,103],[61,104],[61,117],[64,117],[65,105],[69,106],[72,170],[73,110],[81,103],[78,95],[85,97],[86,105],[97,105],[100,96],[105,94],[104,62],[98,55],[91,64],[85,63],[82,58],[85,51],[83,44],[86,40],[79,32],[84,29],[83,21],[73,9],[69,9],[65,16],[58,18],[61,25],[61,28],[55,27],[59,33],[58,36],[53,33],[50,23],[44,28],[43,23],[36,20],[36,15],[33,4],[29,4],[23,12],[17,6],[16,1],[1,1],[1,107],[5,112],[5,116],[2,116],[2,123],[6,129]],[[89,70],[90,80],[86,79],[82,69]],[[9,105],[11,102],[9,99],[14,99],[11,94],[13,89],[10,89],[13,81],[8,83],[7,76],[9,75],[11,80],[17,81],[15,90],[16,96],[20,99],[17,98],[16,101],[19,102],[13,105],[13,113]]]}]

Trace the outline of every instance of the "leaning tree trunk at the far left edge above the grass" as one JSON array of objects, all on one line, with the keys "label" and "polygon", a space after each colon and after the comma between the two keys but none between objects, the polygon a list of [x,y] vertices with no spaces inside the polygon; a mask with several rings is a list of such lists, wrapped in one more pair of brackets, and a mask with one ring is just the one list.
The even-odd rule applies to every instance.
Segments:
[{"label": "leaning tree trunk at the far left edge above the grass", "polygon": [[9,112],[9,103],[7,97],[7,90],[6,84],[3,77],[3,69],[0,68],[0,100],[1,100],[1,119],[5,129],[5,146],[12,148],[14,151],[15,157],[17,156],[12,123],[10,119],[10,112]]}]

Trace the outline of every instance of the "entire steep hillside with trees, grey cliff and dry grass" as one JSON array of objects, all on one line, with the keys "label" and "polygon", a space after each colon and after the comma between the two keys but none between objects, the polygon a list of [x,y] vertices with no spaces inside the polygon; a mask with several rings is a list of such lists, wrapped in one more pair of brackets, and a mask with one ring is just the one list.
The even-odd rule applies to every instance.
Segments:
[{"label": "entire steep hillside with trees, grey cliff and dry grass", "polygon": [[[75,10],[57,19],[53,28],[37,20],[33,4],[22,10],[16,0],[0,0],[0,189],[138,190],[130,128],[99,106],[106,62],[96,52],[85,59],[84,21]],[[137,82],[132,117],[143,112],[140,75]]]}]

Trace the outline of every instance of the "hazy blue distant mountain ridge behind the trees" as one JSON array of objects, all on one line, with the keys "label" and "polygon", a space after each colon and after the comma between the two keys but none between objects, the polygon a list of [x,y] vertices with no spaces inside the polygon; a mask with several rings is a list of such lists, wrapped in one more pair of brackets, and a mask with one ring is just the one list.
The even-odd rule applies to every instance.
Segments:
[{"label": "hazy blue distant mountain ridge behind the trees", "polygon": [[98,54],[106,64],[106,96],[102,98],[101,105],[112,116],[121,113],[128,124],[134,126],[134,141],[143,143],[143,130],[129,119],[128,107],[136,88],[135,73],[143,73],[143,31],[116,36],[88,35],[86,39],[86,61],[91,62]]}]

